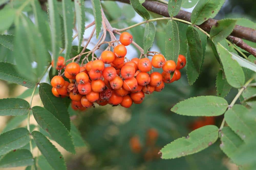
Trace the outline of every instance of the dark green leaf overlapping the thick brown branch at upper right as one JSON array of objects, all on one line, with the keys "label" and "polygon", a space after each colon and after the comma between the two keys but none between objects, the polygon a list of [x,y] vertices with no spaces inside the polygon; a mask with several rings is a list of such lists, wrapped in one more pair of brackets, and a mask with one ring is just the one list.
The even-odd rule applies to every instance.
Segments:
[{"label": "dark green leaf overlapping the thick brown branch at upper right", "polygon": [[219,20],[214,26],[212,26],[210,31],[210,37],[215,43],[220,42],[233,31],[236,22],[236,19]]}]

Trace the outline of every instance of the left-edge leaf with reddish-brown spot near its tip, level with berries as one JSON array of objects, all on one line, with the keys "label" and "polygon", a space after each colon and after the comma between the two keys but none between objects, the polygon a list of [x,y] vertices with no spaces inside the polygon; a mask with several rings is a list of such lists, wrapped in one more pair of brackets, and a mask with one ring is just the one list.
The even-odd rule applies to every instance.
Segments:
[{"label": "left-edge leaf with reddish-brown spot near its tip, level with berries", "polygon": [[27,88],[33,88],[36,85],[36,80],[33,79],[33,75],[31,75],[30,78],[26,78],[16,71],[14,64],[2,61],[0,62],[0,79],[16,83]]}]

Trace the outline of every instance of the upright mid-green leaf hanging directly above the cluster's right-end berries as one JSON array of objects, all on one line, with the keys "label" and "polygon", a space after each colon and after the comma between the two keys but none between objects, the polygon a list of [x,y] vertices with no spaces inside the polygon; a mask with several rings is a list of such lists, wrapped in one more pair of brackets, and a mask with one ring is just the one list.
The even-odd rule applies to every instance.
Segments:
[{"label": "upright mid-green leaf hanging directly above the cluster's right-end berries", "polygon": [[178,61],[179,56],[179,30],[175,21],[169,20],[165,27],[165,53],[167,60]]}]

